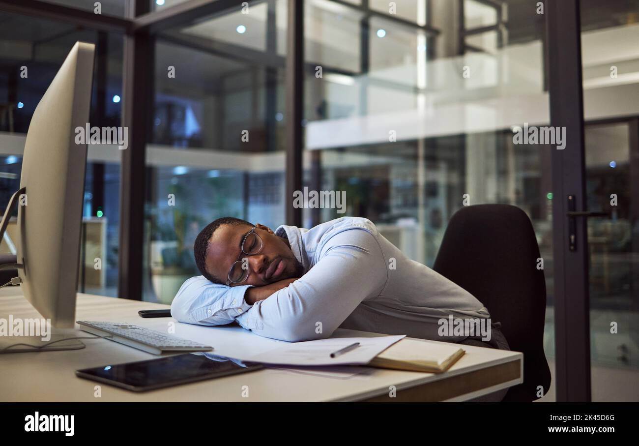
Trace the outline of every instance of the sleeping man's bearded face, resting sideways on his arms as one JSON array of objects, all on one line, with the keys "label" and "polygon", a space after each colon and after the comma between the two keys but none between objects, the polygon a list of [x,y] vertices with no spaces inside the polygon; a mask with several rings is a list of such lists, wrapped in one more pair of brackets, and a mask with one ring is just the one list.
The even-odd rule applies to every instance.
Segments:
[{"label": "sleeping man's bearded face, resting sideways on his arms", "polygon": [[231,265],[239,257],[240,260],[246,259],[249,277],[240,284],[231,283],[231,286],[260,286],[302,275],[302,265],[293,255],[288,243],[261,224],[253,232],[262,239],[262,249],[252,256],[244,254],[242,240],[251,228],[252,226],[229,224],[218,227],[206,251],[206,270],[226,282]]}]

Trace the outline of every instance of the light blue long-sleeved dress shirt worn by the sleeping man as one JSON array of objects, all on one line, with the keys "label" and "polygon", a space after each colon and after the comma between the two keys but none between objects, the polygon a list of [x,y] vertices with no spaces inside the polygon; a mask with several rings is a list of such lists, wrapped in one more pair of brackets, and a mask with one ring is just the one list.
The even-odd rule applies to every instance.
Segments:
[{"label": "light blue long-sleeved dress shirt worn by the sleeping man", "polygon": [[280,226],[304,275],[265,300],[249,305],[248,285],[213,284],[203,276],[184,282],[171,305],[180,322],[224,325],[236,321],[252,332],[284,341],[329,337],[336,328],[421,339],[441,337],[438,320],[489,318],[465,289],[413,261],[359,217],[341,217],[312,229]]}]

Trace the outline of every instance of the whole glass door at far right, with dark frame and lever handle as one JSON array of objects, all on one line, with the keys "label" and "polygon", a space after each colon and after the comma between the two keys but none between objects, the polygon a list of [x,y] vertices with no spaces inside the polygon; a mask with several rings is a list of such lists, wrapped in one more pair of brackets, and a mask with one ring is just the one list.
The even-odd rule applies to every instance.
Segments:
[{"label": "whole glass door at far right, with dark frame and lever handle", "polygon": [[638,5],[546,4],[557,401],[638,398]]}]

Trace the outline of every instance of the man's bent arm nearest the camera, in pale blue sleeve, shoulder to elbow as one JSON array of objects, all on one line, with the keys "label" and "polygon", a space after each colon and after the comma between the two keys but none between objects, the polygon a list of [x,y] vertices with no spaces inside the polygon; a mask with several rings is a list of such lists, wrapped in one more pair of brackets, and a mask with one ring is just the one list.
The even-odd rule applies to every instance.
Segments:
[{"label": "man's bent arm nearest the camera, in pale blue sleeve, shoulder to elbow", "polygon": [[242,327],[283,341],[329,337],[364,298],[377,295],[388,270],[377,240],[364,229],[332,236],[309,272],[238,316]]}]

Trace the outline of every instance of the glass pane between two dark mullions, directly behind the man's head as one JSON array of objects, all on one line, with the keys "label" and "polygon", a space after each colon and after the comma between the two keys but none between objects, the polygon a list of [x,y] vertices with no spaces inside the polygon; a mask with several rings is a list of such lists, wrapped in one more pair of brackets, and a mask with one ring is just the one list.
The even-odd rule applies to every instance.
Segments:
[{"label": "glass pane between two dark mullions, directly behind the man's head", "polygon": [[170,304],[199,275],[193,243],[212,220],[284,223],[283,3],[201,17],[156,38],[145,299]]}]

